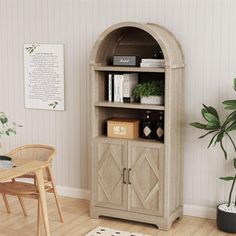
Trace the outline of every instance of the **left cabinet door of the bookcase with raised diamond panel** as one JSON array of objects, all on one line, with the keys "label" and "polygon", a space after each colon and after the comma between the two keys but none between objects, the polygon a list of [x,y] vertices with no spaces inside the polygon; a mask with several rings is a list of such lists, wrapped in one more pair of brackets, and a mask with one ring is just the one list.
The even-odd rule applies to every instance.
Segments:
[{"label": "left cabinet door of the bookcase with raised diamond panel", "polygon": [[127,142],[98,138],[94,157],[95,205],[127,210]]}]

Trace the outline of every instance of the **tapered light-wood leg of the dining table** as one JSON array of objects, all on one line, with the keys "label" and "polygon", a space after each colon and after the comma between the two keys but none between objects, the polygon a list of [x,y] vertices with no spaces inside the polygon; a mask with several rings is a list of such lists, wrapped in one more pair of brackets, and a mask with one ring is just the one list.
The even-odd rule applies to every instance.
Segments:
[{"label": "tapered light-wood leg of the dining table", "polygon": [[43,181],[43,170],[39,169],[35,171],[35,176],[38,184],[38,190],[39,190],[39,201],[42,208],[42,215],[43,215],[43,221],[45,225],[45,231],[46,235],[50,236],[50,230],[49,230],[49,221],[48,221],[48,211],[47,211],[47,202],[46,202],[46,194],[45,194],[45,188],[44,188],[44,181]]}]

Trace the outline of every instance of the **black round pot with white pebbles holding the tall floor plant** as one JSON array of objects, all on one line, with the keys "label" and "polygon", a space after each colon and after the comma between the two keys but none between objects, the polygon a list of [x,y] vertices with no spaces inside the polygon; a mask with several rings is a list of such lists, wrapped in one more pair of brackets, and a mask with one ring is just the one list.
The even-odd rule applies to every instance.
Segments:
[{"label": "black round pot with white pebbles holding the tall floor plant", "polygon": [[236,207],[231,204],[231,207],[228,208],[227,203],[218,205],[216,222],[220,230],[236,233]]}]

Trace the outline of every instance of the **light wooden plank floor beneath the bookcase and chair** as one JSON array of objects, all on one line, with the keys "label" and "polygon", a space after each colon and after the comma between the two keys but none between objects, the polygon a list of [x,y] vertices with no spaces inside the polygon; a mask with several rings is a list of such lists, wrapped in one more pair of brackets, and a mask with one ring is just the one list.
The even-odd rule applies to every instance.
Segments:
[{"label": "light wooden plank floor beneath the bookcase and chair", "polygon": [[[0,236],[32,236],[36,235],[37,201],[24,199],[28,209],[28,217],[22,215],[19,203],[9,197],[12,213],[7,214],[0,198]],[[176,221],[168,232],[160,231],[155,226],[137,222],[117,220],[111,218],[89,218],[89,202],[73,198],[61,198],[65,223],[60,223],[56,206],[52,196],[48,198],[48,209],[51,234],[53,236],[82,236],[96,226],[110,227],[158,236],[225,236],[233,235],[220,232],[216,229],[214,220],[184,216]],[[42,235],[44,235],[42,225]],[[234,234],[235,235],[235,234]]]}]

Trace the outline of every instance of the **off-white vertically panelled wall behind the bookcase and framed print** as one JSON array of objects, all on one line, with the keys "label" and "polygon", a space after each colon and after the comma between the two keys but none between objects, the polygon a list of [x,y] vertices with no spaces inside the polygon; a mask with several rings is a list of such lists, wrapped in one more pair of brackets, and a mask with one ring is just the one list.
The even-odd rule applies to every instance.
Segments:
[{"label": "off-white vertically panelled wall behind the bookcase and framed print", "polygon": [[[186,61],[184,106],[184,203],[214,207],[228,188],[219,175],[232,171],[219,149],[207,150],[191,121],[204,102],[233,98],[236,76],[234,0],[0,0],[0,110],[24,127],[2,139],[4,153],[26,143],[56,146],[57,183],[86,189],[88,64],[99,34],[120,21],[154,22],[172,31]],[[65,45],[66,111],[24,109],[23,44]],[[198,208],[199,210],[200,208]],[[204,208],[205,209],[205,208]],[[191,213],[191,212],[190,212]]]}]

